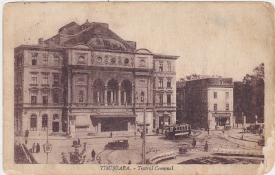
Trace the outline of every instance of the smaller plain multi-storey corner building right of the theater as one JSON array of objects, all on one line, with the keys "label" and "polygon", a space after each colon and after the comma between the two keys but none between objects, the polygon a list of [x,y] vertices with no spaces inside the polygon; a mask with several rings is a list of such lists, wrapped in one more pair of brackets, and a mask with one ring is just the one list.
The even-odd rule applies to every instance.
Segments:
[{"label": "smaller plain multi-storey corner building right of the theater", "polygon": [[232,78],[200,78],[177,87],[177,120],[201,128],[233,126]]}]

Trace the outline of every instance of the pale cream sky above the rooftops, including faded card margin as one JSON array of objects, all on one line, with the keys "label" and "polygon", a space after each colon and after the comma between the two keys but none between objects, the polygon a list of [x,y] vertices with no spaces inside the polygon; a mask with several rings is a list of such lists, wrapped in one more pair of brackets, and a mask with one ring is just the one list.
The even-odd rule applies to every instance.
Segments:
[{"label": "pale cream sky above the rooftops, including faded card margin", "polygon": [[274,22],[263,3],[17,3],[5,6],[3,21],[14,48],[87,19],[108,23],[137,49],[179,56],[177,80],[197,73],[241,81],[274,54]]}]

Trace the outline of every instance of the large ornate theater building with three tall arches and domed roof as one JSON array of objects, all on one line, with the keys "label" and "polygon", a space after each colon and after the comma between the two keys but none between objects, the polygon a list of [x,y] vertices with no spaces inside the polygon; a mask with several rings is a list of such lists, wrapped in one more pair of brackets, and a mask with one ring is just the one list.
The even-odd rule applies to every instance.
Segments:
[{"label": "large ornate theater building with three tall arches and domed roof", "polygon": [[14,49],[14,130],[30,135],[148,129],[176,119],[178,56],[136,49],[105,23],[69,23]]}]

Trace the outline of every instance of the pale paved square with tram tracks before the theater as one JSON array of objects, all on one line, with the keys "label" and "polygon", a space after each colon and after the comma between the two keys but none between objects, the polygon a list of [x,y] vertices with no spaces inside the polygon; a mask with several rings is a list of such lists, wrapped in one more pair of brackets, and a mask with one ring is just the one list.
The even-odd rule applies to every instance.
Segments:
[{"label": "pale paved square with tram tracks before the theater", "polygon": [[[232,132],[238,131],[235,130]],[[153,135],[151,133],[149,136],[146,136],[146,158],[148,159],[155,154],[174,151],[177,154],[177,158],[162,163],[181,163],[188,159],[210,156],[212,150],[216,148],[253,150],[253,146],[256,147],[257,145],[257,143],[250,142],[249,147],[247,145],[248,141],[236,141],[236,139],[234,139],[234,141],[230,140],[230,137],[228,137],[229,134],[229,132],[225,132],[223,135],[221,130],[210,130],[210,134],[208,135],[208,132],[205,130],[194,130],[190,137],[169,140],[165,139],[163,135]],[[142,161],[142,139],[138,136],[140,135],[137,135],[135,139],[133,135],[127,136],[127,133],[124,133],[123,137],[129,139],[130,147],[127,150],[104,150],[104,145],[109,141],[113,141],[110,137],[80,139],[81,144],[87,142],[85,163],[98,164],[98,161],[91,160],[91,150],[93,149],[96,151],[96,158],[101,159],[101,164],[126,164],[128,161],[131,161],[132,163],[140,163]],[[120,135],[117,134],[116,137],[120,137]],[[191,145],[193,138],[197,140],[196,148],[192,148]],[[65,152],[67,159],[69,159],[68,153],[74,151],[74,147],[72,147],[73,140],[74,139],[50,139],[49,143],[52,143],[53,146],[52,152],[48,156],[48,163],[61,163],[61,152]],[[23,139],[21,139],[21,141],[23,142]],[[208,152],[203,150],[206,141],[208,141]],[[46,163],[46,154],[43,152],[43,143],[46,143],[45,139],[29,139],[27,145],[28,148],[31,148],[33,143],[39,143],[41,145],[41,152],[37,154],[34,153],[34,158],[39,163]],[[179,148],[186,148],[187,153],[179,154]],[[83,148],[80,147],[79,151],[81,152],[82,150]]]}]

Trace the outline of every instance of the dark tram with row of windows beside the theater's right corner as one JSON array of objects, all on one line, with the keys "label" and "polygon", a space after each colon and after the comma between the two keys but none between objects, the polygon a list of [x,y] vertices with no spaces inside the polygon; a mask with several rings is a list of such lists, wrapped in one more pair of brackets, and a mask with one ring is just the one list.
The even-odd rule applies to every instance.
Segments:
[{"label": "dark tram with row of windows beside the theater's right corner", "polygon": [[165,126],[165,137],[167,139],[190,136],[191,126],[188,124],[173,124]]}]

